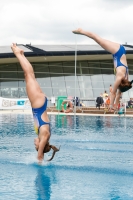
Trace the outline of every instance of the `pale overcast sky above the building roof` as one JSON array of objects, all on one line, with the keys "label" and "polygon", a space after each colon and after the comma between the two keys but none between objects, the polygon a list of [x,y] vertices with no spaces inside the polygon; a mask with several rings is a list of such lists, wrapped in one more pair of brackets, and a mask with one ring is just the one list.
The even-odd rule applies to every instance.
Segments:
[{"label": "pale overcast sky above the building roof", "polygon": [[0,0],[0,46],[96,44],[79,27],[133,45],[133,0]]}]

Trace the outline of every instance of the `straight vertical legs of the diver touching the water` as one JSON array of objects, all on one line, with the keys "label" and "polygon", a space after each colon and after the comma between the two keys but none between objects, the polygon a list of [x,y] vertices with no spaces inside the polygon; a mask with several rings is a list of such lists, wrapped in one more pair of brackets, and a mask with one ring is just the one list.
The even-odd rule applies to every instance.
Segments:
[{"label": "straight vertical legs of the diver touching the water", "polygon": [[28,98],[33,107],[38,107],[44,103],[44,94],[35,79],[32,65],[24,56],[23,50],[17,47],[16,44],[13,44],[11,48],[24,71]]}]

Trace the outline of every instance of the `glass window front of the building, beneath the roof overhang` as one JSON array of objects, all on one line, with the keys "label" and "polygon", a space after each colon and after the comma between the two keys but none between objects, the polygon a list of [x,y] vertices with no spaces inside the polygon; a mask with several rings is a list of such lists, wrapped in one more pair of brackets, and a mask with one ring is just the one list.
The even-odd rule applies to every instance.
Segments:
[{"label": "glass window front of the building, beneath the roof overhang", "polygon": [[[130,80],[133,80],[133,61],[128,61]],[[74,96],[75,62],[32,63],[35,77],[48,97]],[[76,96],[94,98],[114,84],[113,60],[77,61]],[[18,71],[17,71],[18,70]],[[27,97],[24,73],[19,63],[0,64],[1,95],[3,97]],[[133,89],[123,93],[133,96]]]}]

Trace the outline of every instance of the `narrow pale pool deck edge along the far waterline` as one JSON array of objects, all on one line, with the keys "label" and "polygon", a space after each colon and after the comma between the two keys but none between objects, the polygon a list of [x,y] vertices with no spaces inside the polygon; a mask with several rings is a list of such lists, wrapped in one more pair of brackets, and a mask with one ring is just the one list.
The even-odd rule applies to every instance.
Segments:
[{"label": "narrow pale pool deck edge along the far waterline", "polygon": [[[62,113],[62,112],[47,112],[48,115],[75,115],[75,113]],[[31,110],[0,110],[0,114],[31,114]],[[133,117],[133,114],[114,114],[114,113],[109,113],[109,114],[103,114],[103,113],[76,113],[76,115],[80,116],[112,116],[112,117]]]}]

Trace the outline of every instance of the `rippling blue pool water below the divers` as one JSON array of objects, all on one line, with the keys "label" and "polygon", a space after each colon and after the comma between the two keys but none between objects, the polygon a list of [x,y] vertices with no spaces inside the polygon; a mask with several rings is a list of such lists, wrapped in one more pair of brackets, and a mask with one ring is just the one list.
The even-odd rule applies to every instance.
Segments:
[{"label": "rippling blue pool water below the divers", "polygon": [[31,115],[0,115],[0,200],[132,200],[133,119],[51,115],[39,165]]}]

